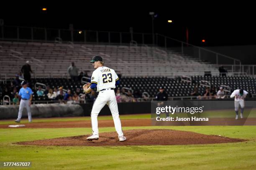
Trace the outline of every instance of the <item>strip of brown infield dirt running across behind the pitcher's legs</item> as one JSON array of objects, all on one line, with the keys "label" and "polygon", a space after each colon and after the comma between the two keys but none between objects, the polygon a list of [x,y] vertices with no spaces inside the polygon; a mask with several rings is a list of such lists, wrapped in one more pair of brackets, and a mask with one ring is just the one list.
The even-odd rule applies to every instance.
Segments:
[{"label": "strip of brown infield dirt running across behind the pitcher's legs", "polygon": [[[114,127],[113,120],[98,120],[99,127]],[[256,125],[256,118],[243,118],[235,120],[235,118],[210,118],[209,122],[151,122],[151,119],[129,119],[121,120],[122,126],[151,126],[151,125]],[[90,120],[76,121],[56,121],[56,122],[33,122],[22,123],[25,127],[19,128],[91,128]],[[0,125],[0,128],[9,128],[10,124]],[[13,122],[11,125],[17,125]]]}]

